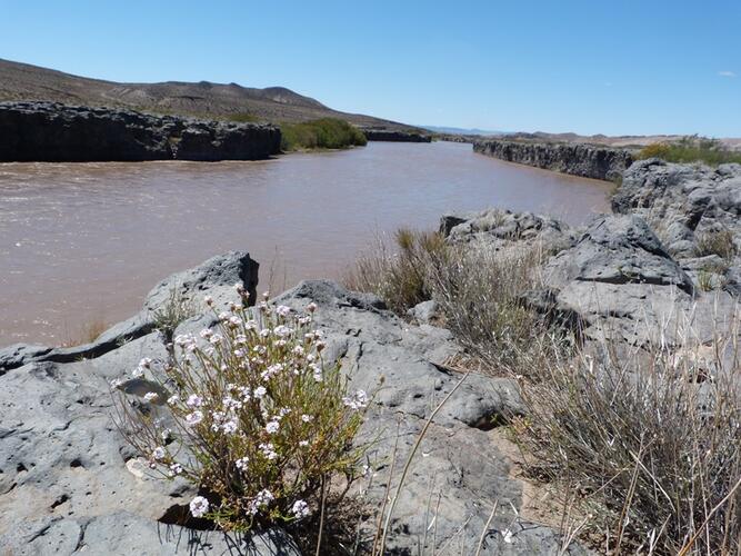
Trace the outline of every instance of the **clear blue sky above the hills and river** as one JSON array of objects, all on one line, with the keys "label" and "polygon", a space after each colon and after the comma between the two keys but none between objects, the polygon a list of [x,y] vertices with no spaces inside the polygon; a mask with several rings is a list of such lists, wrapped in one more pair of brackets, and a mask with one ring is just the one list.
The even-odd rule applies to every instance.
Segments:
[{"label": "clear blue sky above the hills and river", "polygon": [[0,0],[0,58],[421,125],[741,137],[739,0]]}]

